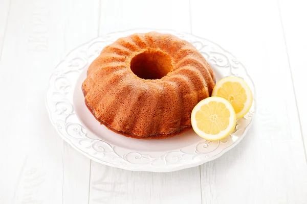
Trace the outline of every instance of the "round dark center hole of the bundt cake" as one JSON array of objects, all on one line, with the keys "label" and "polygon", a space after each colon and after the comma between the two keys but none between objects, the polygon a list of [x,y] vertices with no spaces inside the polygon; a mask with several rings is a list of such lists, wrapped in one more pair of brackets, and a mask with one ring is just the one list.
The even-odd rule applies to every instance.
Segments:
[{"label": "round dark center hole of the bundt cake", "polygon": [[170,72],[172,65],[168,55],[157,50],[146,50],[131,60],[131,70],[145,80],[157,80]]}]

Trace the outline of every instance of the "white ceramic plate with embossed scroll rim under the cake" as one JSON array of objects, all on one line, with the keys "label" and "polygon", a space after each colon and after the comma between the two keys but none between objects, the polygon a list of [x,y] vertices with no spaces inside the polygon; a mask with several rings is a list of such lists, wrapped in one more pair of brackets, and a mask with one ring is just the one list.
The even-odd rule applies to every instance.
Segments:
[{"label": "white ceramic plate with embossed scroll rim under the cake", "polygon": [[[202,139],[193,130],[162,140],[127,138],[109,131],[86,108],[81,83],[86,77],[87,68],[102,48],[120,37],[149,31],[152,30],[112,33],[72,50],[50,78],[46,104],[51,122],[60,136],[86,157],[128,170],[176,171],[222,156],[246,135],[255,111],[255,101],[249,113],[237,120],[234,132],[214,142]],[[255,95],[253,82],[244,66],[217,44],[187,33],[170,30],[158,32],[170,33],[191,42],[212,66],[217,81],[229,75],[241,77]]]}]

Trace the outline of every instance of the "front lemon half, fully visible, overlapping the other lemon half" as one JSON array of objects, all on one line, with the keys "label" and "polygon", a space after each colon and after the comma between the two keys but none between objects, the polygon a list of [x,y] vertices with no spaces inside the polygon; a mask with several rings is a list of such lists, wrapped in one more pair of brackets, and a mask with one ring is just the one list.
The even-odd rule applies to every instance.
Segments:
[{"label": "front lemon half, fully visible, overlapping the other lemon half", "polygon": [[236,117],[228,100],[221,97],[209,97],[201,100],[194,107],[191,123],[195,133],[202,138],[221,140],[233,131]]}]

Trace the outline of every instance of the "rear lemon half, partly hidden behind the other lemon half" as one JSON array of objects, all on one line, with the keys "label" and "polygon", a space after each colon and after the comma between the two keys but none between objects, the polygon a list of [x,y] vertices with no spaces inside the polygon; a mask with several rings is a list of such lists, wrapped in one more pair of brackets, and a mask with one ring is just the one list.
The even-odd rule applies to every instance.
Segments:
[{"label": "rear lemon half, partly hidden behind the other lemon half", "polygon": [[234,108],[236,118],[242,118],[250,110],[253,94],[247,83],[238,77],[226,77],[220,80],[212,91],[212,96],[227,99]]}]

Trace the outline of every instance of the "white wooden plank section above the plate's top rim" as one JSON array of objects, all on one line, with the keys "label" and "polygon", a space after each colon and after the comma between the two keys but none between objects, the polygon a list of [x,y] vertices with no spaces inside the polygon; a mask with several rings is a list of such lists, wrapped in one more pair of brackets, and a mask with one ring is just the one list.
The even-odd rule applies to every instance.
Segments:
[{"label": "white wooden plank section above the plate's top rim", "polygon": [[190,32],[187,0],[147,2],[101,1],[100,35],[130,29],[171,29]]}]

